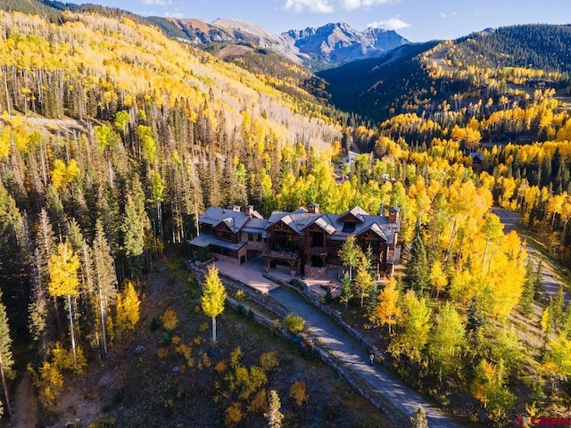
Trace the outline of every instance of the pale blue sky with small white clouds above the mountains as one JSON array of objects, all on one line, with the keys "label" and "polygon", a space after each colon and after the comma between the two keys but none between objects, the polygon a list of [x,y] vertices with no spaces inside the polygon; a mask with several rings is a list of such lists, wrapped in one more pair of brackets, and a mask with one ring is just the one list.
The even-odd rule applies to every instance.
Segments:
[{"label": "pale blue sky with small white clouds above the mountains", "polygon": [[119,7],[141,15],[252,21],[275,33],[346,22],[394,29],[411,42],[454,39],[488,27],[571,23],[568,0],[62,0]]}]

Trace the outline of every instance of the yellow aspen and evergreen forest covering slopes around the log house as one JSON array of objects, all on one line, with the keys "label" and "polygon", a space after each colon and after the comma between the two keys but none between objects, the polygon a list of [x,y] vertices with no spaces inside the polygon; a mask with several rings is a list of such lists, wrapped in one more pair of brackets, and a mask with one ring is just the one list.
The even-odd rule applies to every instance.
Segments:
[{"label": "yellow aspen and evergreen forest covering slopes around the log house", "polygon": [[[571,119],[555,88],[525,89],[541,77],[565,91],[566,72],[462,68],[447,62],[451,42],[406,46],[367,71],[372,79],[393,68],[386,77],[403,91],[373,127],[294,87],[303,70],[254,74],[122,12],[97,11],[55,21],[0,12],[0,366],[18,375],[29,366],[46,424],[64,410],[64,385],[149,328],[164,330],[157,366],[169,357],[186,376],[215,376],[212,426],[246,424],[226,419],[238,410],[261,419],[272,358],[262,370],[249,357],[246,369],[240,350],[208,354],[200,337],[171,337],[174,309],[143,292],[165,248],[194,237],[206,207],[246,203],[266,216],[311,202],[331,213],[400,207],[402,275],[377,289],[361,254],[335,309],[367,325],[387,365],[466,424],[566,415],[571,307],[562,291],[542,298],[541,266],[491,213],[494,204],[520,210],[571,262]],[[529,144],[491,144],[515,140]],[[363,153],[334,168],[352,144]],[[192,303],[168,301],[202,333],[198,287],[188,283]],[[154,326],[139,325],[140,307],[161,311]],[[235,395],[220,392],[227,383]],[[170,415],[179,399],[192,404],[166,382],[145,391],[152,399],[141,408],[153,416]],[[257,404],[233,402],[237,391]],[[335,411],[341,424],[344,410]]]}]

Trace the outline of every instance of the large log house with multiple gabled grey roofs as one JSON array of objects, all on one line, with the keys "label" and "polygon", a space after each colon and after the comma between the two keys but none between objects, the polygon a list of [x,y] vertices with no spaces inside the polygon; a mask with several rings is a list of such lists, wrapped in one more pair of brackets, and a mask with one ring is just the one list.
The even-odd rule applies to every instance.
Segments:
[{"label": "large log house with multiple gabled grey roofs", "polygon": [[398,209],[389,210],[388,216],[360,207],[326,214],[310,204],[293,212],[274,211],[266,220],[252,206],[244,211],[210,207],[199,218],[199,227],[200,235],[190,243],[195,257],[242,264],[263,255],[267,271],[283,269],[292,275],[325,276],[327,268],[341,273],[338,252],[349,235],[363,251],[370,248],[377,277],[391,276],[401,257]]}]

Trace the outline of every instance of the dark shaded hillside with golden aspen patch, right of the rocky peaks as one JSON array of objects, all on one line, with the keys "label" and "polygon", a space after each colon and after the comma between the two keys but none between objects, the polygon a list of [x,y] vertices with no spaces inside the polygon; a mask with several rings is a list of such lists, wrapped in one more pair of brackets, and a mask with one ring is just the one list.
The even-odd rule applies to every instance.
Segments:
[{"label": "dark shaded hillside with golden aspen patch, right of the rocky peaks", "polygon": [[[481,32],[455,41],[404,46],[377,61],[352,62],[317,73],[335,106],[385,120],[394,114],[432,115],[453,95],[486,103],[509,84],[543,78],[569,94],[569,26],[527,25]],[[525,90],[525,89],[524,89]]]}]

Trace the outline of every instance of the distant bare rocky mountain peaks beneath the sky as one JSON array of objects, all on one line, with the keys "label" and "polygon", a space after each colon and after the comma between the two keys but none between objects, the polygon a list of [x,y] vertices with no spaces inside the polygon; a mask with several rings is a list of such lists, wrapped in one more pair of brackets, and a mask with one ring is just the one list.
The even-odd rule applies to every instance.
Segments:
[{"label": "distant bare rocky mountain peaks beneath the sky", "polygon": [[216,20],[208,23],[174,18],[170,21],[197,45],[252,45],[269,49],[312,69],[378,58],[396,47],[409,44],[406,38],[392,30],[358,31],[343,22],[327,24],[318,29],[292,29],[277,35],[246,21]]}]

